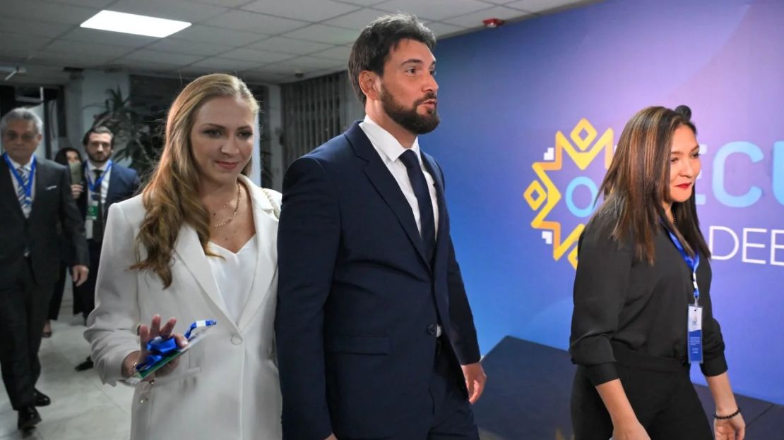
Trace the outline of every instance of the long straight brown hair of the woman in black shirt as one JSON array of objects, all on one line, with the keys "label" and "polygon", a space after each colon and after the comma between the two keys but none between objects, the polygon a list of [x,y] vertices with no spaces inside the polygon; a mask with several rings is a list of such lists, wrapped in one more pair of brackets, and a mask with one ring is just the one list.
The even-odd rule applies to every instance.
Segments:
[{"label": "long straight brown hair of the woman in black shirt", "polygon": [[692,187],[691,197],[684,203],[672,204],[677,228],[670,223],[663,207],[670,197],[673,133],[681,126],[697,134],[688,106],[677,106],[675,110],[660,106],[640,110],[623,128],[599,189],[604,204],[594,217],[617,218],[612,236],[621,242],[631,240],[636,257],[650,264],[654,261],[653,240],[659,222],[666,223],[689,254],[693,256],[698,251],[702,258],[710,258],[710,250],[699,230],[696,189]]}]

